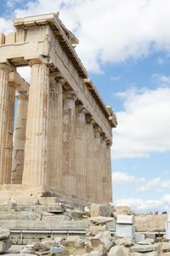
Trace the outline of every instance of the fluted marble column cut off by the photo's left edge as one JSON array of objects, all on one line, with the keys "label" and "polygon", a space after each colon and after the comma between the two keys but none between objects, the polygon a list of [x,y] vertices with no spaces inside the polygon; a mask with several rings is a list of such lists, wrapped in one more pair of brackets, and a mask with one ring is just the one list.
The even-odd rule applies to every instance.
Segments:
[{"label": "fluted marble column cut off by the photo's left edge", "polygon": [[0,64],[0,183],[6,183],[6,168],[4,165],[5,148],[8,137],[8,100],[10,87],[8,75],[10,68],[6,64]]}]

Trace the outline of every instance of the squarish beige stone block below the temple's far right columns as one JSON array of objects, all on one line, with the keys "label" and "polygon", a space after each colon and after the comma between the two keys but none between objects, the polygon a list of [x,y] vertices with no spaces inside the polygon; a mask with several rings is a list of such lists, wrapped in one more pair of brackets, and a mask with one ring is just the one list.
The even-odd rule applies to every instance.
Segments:
[{"label": "squarish beige stone block below the temple's far right columns", "polygon": [[96,216],[110,217],[111,216],[110,208],[105,205],[91,204],[90,216],[91,217],[96,217]]}]

